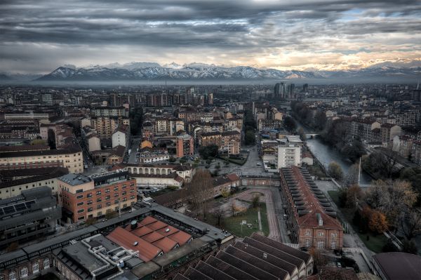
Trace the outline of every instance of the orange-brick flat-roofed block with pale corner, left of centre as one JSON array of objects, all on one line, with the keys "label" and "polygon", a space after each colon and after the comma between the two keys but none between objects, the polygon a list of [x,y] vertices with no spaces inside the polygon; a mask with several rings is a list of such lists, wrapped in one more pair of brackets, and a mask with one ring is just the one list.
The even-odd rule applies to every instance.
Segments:
[{"label": "orange-brick flat-roofed block with pale corner, left of centre", "polygon": [[98,218],[136,203],[136,180],[127,171],[91,175],[67,174],[58,182],[59,203],[73,222]]}]

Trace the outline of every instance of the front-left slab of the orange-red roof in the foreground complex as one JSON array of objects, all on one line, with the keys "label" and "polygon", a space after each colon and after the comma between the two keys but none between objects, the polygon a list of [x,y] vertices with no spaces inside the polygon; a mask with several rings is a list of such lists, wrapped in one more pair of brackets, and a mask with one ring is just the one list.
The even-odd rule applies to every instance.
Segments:
[{"label": "front-left slab of the orange-red roof in the foreground complex", "polygon": [[126,249],[138,251],[139,258],[144,262],[149,262],[149,260],[152,260],[158,255],[163,255],[161,248],[135,236],[135,234],[128,232],[123,227],[116,227],[116,229],[107,235],[107,239]]}]

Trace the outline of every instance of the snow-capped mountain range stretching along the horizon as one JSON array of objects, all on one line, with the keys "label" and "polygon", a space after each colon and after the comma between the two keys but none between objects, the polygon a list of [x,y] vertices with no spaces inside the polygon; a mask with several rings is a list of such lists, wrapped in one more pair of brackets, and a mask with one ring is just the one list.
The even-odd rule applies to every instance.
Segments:
[{"label": "snow-capped mountain range stretching along the horizon", "polygon": [[[16,79],[15,76],[10,76]],[[326,81],[333,79],[413,79],[421,77],[421,61],[413,60],[410,63],[382,62],[363,69],[350,69],[338,71],[322,71],[309,69],[278,70],[262,69],[250,66],[220,66],[203,63],[178,65],[171,62],[159,65],[156,62],[129,62],[126,64],[111,63],[108,65],[88,65],[75,67],[64,65],[53,72],[34,76],[34,81],[154,81],[154,80],[296,80],[312,79]],[[1,80],[1,77],[0,77]],[[4,81],[8,76],[3,75]]]}]

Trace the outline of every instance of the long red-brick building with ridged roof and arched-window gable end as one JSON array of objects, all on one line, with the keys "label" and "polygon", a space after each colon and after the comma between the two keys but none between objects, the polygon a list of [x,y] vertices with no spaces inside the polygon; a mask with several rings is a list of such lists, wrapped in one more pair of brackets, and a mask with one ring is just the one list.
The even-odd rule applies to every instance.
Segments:
[{"label": "long red-brick building with ridged roof and arched-window gable end", "polygon": [[287,201],[287,225],[300,247],[342,248],[343,229],[325,194],[305,169],[281,168],[281,188]]}]

